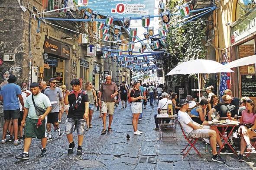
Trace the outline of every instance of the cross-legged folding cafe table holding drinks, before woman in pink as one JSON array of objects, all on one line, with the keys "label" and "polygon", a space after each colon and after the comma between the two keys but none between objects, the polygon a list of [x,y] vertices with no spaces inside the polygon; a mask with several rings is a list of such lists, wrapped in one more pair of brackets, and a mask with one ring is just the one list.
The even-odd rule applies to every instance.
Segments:
[{"label": "cross-legged folding cafe table holding drinks, before woman in pink", "polygon": [[[232,134],[232,132],[233,132],[233,130],[234,130],[234,128],[235,127],[237,127],[237,126],[239,126],[239,124],[220,124],[220,125],[215,125],[215,124],[209,124],[210,126],[215,126],[215,127],[220,127],[221,128],[221,132],[219,131],[219,129],[218,128],[216,128],[217,129],[217,131],[218,131],[218,133],[220,134],[220,137],[222,138],[222,139],[224,139],[224,143],[222,144],[222,146],[220,146],[220,150],[218,151],[218,154],[220,154],[220,151],[221,151],[221,149],[222,149],[222,147],[225,145],[225,144],[227,144],[229,147],[230,147],[230,149],[237,155],[237,153],[236,153],[236,151],[232,148],[232,146],[228,143],[228,138],[229,138],[229,136]],[[229,131],[229,134],[227,135],[227,136],[225,136],[224,134],[225,134],[225,132],[227,131],[227,129],[228,129],[228,127],[231,127],[231,130]]]}]

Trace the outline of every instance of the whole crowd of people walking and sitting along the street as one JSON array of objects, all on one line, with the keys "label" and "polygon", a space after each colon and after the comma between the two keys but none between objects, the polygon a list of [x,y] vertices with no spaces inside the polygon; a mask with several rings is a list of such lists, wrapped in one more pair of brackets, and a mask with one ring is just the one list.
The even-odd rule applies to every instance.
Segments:
[{"label": "whole crowd of people walking and sitting along the street", "polygon": [[[98,94],[94,90],[92,82],[81,85],[79,79],[73,79],[70,82],[72,90],[67,90],[65,85],[57,87],[57,79],[49,79],[49,86],[46,82],[31,83],[27,90],[27,83],[22,82],[21,86],[15,84],[16,77],[9,76],[8,83],[1,88],[0,101],[3,102],[4,125],[1,143],[7,142],[6,136],[10,135],[8,141],[19,145],[24,142],[23,152],[16,156],[17,159],[29,159],[29,147],[32,138],[41,139],[41,156],[47,154],[46,144],[52,140],[52,125],[54,132],[59,137],[65,133],[69,142],[68,154],[73,153],[75,142],[73,132],[78,134],[77,155],[82,154],[82,144],[84,139],[84,130],[92,128],[92,118],[94,108],[99,106],[100,117],[102,117],[103,129],[102,135],[113,132],[111,123],[115,107],[118,107],[120,101],[121,109],[127,107],[130,103],[130,109],[133,115],[132,125],[133,134],[141,135],[138,129],[138,121],[142,120],[143,108],[146,109],[147,101],[150,105],[158,104],[158,113],[155,114],[156,128],[159,125],[157,114],[161,110],[166,110],[168,104],[172,104],[173,114],[178,114],[178,121],[188,137],[203,138],[212,148],[212,160],[224,163],[225,160],[217,154],[216,145],[222,146],[220,135],[214,126],[209,126],[215,115],[227,117],[233,121],[240,121],[238,132],[242,135],[240,142],[239,161],[244,161],[243,153],[245,151],[254,151],[255,148],[250,143],[250,138],[256,136],[256,109],[254,101],[248,97],[233,97],[231,90],[225,90],[221,97],[223,103],[214,94],[213,86],[206,88],[208,96],[201,94],[201,101],[196,103],[191,95],[178,101],[178,94],[169,91],[164,84],[142,83],[141,80],[134,84],[126,85],[126,82],[117,85],[112,82],[111,76],[106,76],[106,81],[100,86]],[[210,96],[210,97],[209,97]],[[190,110],[189,114],[187,113]],[[59,123],[62,122],[62,114],[65,112],[65,130],[61,130]],[[108,125],[107,125],[108,116]],[[240,120],[235,117],[241,116]],[[232,135],[230,135],[230,141]],[[230,142],[229,141],[229,142]],[[233,154],[234,152],[224,145],[220,154]]]}]

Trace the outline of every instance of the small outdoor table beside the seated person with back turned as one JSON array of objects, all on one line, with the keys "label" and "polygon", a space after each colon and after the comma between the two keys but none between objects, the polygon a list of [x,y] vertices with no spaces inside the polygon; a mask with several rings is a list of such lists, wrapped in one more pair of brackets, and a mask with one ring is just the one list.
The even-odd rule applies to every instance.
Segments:
[{"label": "small outdoor table beside the seated person with back turned", "polygon": [[[169,115],[169,114],[158,114],[156,116],[156,118],[160,121],[158,121],[159,123],[159,140],[164,140],[164,137],[163,137],[163,132],[162,132],[162,128],[161,126],[168,126],[168,125],[171,125],[172,128],[173,128],[173,131],[172,131],[172,136],[169,136],[169,137],[165,137],[166,139],[173,139],[173,140],[177,140],[177,134],[176,134],[176,123],[175,123],[175,120],[177,120],[178,118],[178,115],[175,114],[175,115]],[[165,119],[169,119],[170,120],[170,123],[165,123]]]}]

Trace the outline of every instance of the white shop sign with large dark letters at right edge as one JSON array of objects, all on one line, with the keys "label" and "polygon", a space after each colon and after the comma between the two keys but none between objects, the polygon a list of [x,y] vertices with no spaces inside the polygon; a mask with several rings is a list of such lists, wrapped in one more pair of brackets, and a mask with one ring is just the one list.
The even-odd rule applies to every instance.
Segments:
[{"label": "white shop sign with large dark letters at right edge", "polygon": [[251,13],[232,27],[232,43],[235,43],[254,32],[256,32],[256,12]]}]

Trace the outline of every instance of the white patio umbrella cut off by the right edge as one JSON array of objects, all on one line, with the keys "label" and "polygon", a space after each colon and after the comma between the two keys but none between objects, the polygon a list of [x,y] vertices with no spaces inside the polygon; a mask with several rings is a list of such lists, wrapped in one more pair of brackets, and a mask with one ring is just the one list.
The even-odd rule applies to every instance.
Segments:
[{"label": "white patio umbrella cut off by the right edge", "polygon": [[253,56],[243,57],[243,58],[234,60],[230,63],[220,66],[219,69],[225,70],[233,67],[246,66],[246,65],[255,64],[255,63],[256,63],[256,55],[253,55]]}]

